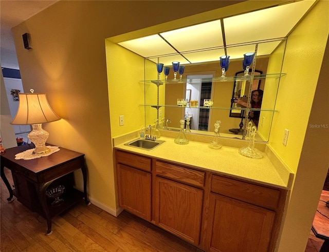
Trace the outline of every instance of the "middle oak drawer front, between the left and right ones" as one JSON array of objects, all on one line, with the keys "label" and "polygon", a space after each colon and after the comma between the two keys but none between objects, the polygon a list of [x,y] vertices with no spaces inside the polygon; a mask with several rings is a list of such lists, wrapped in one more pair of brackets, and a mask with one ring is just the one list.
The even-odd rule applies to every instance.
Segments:
[{"label": "middle oak drawer front, between the left and right ones", "polygon": [[156,174],[195,186],[205,185],[205,172],[156,161]]}]

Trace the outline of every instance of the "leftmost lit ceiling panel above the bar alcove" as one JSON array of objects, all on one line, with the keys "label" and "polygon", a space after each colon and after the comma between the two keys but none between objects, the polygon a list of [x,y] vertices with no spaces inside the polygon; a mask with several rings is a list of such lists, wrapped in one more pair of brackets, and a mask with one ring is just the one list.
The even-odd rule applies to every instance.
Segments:
[{"label": "leftmost lit ceiling panel above the bar alcove", "polygon": [[155,55],[170,54],[176,52],[157,34],[136,38],[135,40],[125,41],[118,44],[143,57],[151,57]]}]

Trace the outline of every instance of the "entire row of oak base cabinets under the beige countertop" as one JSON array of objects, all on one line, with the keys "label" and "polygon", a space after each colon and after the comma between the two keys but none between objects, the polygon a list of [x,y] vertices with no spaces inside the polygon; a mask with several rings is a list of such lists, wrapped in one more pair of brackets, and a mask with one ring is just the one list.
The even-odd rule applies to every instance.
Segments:
[{"label": "entire row of oak base cabinets under the beige countertop", "polygon": [[206,251],[274,251],[287,190],[116,151],[119,204]]}]

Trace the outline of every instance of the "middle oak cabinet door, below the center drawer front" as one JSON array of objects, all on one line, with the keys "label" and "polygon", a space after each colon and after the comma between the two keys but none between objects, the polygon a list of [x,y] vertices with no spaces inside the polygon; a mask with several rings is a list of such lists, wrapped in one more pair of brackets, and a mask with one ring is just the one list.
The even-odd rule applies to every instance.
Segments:
[{"label": "middle oak cabinet door, below the center drawer front", "polygon": [[156,224],[176,236],[198,244],[203,190],[156,177]]}]

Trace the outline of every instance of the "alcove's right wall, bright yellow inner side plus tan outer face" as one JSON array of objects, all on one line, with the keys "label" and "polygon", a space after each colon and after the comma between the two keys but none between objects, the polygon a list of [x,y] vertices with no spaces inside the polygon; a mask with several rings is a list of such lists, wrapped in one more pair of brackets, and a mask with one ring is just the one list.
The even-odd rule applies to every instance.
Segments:
[{"label": "alcove's right wall, bright yellow inner side plus tan outer face", "polygon": [[[269,146],[296,173],[279,251],[304,251],[328,161],[328,1],[319,1],[288,37]],[[326,58],[326,59],[325,59]],[[322,62],[322,60],[325,61]],[[322,69],[321,69],[321,63]],[[321,71],[320,71],[321,69]],[[320,73],[320,77],[319,77]],[[318,79],[319,77],[319,79]],[[314,96],[315,92],[319,97]],[[282,145],[289,129],[287,146]]]}]

